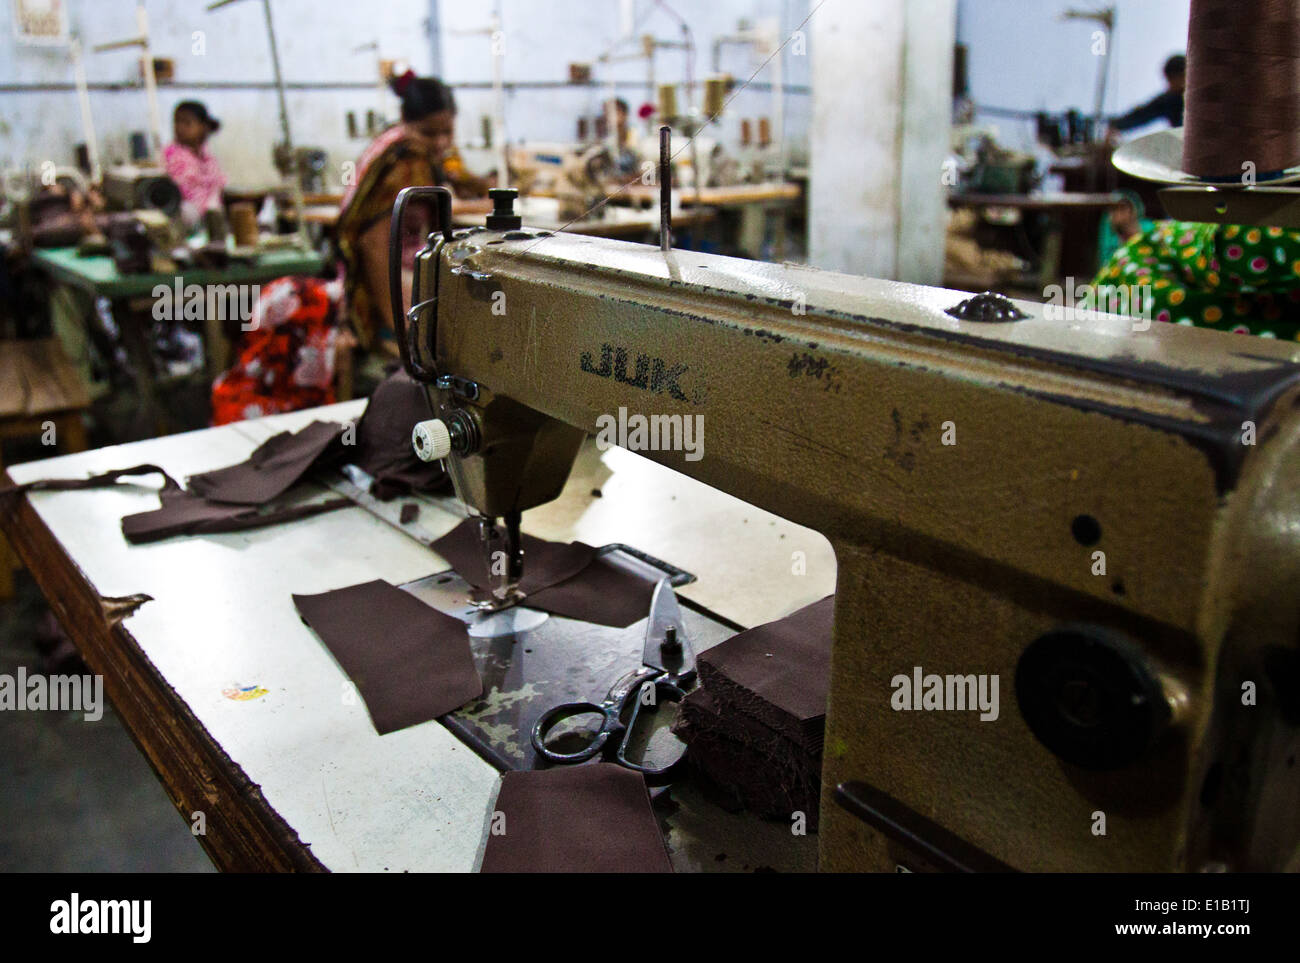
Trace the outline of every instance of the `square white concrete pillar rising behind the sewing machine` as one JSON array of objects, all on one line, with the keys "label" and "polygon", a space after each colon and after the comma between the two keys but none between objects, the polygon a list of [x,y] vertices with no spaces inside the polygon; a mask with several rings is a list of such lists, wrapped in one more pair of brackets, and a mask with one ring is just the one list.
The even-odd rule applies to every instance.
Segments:
[{"label": "square white concrete pillar rising behind the sewing machine", "polygon": [[828,3],[807,29],[810,263],[940,283],[957,0]]}]

